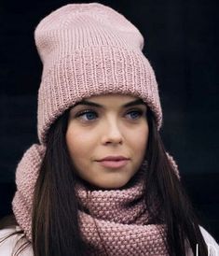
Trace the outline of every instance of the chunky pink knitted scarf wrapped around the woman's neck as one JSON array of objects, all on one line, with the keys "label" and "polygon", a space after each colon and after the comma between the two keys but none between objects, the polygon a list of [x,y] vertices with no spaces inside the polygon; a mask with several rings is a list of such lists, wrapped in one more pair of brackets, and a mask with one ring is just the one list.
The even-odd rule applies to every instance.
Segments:
[{"label": "chunky pink knitted scarf wrapped around the woman's neck", "polygon": [[[25,152],[16,172],[18,191],[13,211],[30,241],[34,184],[44,153],[44,146],[33,145]],[[144,206],[145,171],[144,163],[120,190],[90,191],[83,182],[76,183],[83,208],[79,211],[80,228],[90,245],[89,255],[105,255],[104,249],[112,256],[168,255],[162,238],[165,226],[151,223]]]}]

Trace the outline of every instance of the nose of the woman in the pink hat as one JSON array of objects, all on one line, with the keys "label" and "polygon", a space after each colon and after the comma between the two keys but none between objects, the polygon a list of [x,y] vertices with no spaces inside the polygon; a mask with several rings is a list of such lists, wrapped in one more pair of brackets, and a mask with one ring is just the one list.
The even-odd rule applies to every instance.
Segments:
[{"label": "nose of the woman in the pink hat", "polygon": [[111,120],[105,123],[103,129],[103,144],[122,144],[123,136],[121,133],[121,128],[119,127],[118,121]]}]

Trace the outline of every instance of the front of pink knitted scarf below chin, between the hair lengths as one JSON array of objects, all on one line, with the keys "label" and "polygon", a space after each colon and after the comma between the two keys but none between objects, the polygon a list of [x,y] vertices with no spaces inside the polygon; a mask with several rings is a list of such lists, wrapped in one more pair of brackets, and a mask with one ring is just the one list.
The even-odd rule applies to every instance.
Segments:
[{"label": "front of pink knitted scarf below chin, between the hair lengths", "polygon": [[152,221],[145,211],[144,168],[122,190],[77,187],[84,209],[80,213],[82,235],[90,246],[88,255],[168,255],[162,238],[165,226],[149,224]]}]

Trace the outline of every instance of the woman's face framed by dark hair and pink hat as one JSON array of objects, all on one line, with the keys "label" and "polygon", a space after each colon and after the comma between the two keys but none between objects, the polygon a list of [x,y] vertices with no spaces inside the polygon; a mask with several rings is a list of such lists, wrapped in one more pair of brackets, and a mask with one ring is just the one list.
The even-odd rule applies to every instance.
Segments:
[{"label": "woman's face framed by dark hair and pink hat", "polygon": [[141,99],[121,94],[92,96],[72,107],[66,143],[78,176],[104,189],[126,185],[144,161],[146,110]]}]

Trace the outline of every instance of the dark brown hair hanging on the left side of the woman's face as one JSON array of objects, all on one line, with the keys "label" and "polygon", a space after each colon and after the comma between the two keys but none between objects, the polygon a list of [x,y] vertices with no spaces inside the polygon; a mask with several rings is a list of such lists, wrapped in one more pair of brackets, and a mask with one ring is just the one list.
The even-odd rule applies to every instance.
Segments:
[{"label": "dark brown hair hanging on the left side of the woman's face", "polygon": [[83,255],[75,171],[65,143],[68,113],[48,133],[47,149],[34,188],[34,256]]}]

